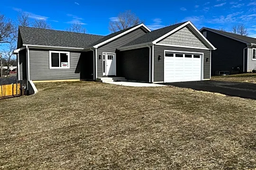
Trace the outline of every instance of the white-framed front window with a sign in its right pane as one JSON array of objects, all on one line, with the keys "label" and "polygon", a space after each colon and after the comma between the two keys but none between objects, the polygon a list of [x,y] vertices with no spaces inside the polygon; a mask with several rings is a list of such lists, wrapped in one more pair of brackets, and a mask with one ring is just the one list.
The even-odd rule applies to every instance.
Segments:
[{"label": "white-framed front window with a sign in its right pane", "polygon": [[70,53],[66,51],[49,51],[50,69],[69,69]]}]

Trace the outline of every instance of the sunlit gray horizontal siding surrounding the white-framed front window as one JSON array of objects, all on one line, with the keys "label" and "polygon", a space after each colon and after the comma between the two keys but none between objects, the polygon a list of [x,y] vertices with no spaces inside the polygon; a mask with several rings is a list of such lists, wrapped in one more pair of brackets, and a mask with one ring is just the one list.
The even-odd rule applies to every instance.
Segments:
[{"label": "sunlit gray horizontal siding surrounding the white-framed front window", "polygon": [[30,80],[80,79],[80,66],[78,65],[78,61],[81,52],[70,51],[70,69],[50,69],[49,51],[50,50],[29,49]]}]

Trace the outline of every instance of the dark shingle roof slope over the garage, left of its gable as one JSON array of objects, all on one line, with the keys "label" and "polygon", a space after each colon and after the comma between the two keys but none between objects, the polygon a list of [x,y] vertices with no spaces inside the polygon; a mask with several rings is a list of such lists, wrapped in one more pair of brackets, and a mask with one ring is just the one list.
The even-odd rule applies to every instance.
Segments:
[{"label": "dark shingle roof slope over the garage, left of its gable", "polygon": [[124,44],[121,47],[127,47],[127,46],[130,46],[130,45],[137,45],[137,44],[142,44],[142,43],[146,43],[146,42],[153,42],[157,38],[160,38],[161,36],[173,31],[175,28],[183,25],[184,23],[186,23],[186,22],[175,24],[173,26],[167,26],[167,27],[164,27],[164,28],[160,28],[160,29],[151,31],[147,34],[144,34],[144,35],[138,37],[137,39],[135,39],[131,42],[128,42],[127,44]]}]

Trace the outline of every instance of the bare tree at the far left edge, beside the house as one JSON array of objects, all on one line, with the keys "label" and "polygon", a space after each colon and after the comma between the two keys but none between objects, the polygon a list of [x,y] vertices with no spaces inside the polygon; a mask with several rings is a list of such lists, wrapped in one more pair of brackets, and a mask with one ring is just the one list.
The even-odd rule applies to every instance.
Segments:
[{"label": "bare tree at the far left edge, beside the house", "polygon": [[0,44],[14,42],[17,29],[12,20],[0,14]]}]

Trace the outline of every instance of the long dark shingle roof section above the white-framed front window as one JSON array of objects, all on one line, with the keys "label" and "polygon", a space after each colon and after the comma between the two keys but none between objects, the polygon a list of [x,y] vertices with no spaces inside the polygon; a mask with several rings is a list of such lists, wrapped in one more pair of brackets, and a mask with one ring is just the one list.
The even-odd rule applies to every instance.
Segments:
[{"label": "long dark shingle roof section above the white-framed front window", "polygon": [[23,44],[85,48],[104,36],[19,26]]}]

